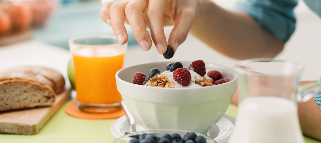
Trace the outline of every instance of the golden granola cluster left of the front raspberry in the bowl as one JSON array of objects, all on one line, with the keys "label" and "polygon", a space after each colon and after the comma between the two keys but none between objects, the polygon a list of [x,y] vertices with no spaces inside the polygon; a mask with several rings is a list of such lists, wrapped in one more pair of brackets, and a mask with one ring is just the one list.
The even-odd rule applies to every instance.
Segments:
[{"label": "golden granola cluster left of the front raspberry in the bowl", "polygon": [[160,87],[160,88],[175,88],[173,81],[168,80],[168,76],[169,75],[167,74],[164,74],[161,76],[155,75],[154,77],[149,79],[150,82],[147,83],[146,86]]}]

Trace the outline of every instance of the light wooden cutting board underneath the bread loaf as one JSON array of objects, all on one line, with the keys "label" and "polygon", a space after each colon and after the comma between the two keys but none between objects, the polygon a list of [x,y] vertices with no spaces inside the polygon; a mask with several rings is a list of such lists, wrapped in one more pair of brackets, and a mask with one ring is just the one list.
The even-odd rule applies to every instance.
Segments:
[{"label": "light wooden cutting board underneath the bread loaf", "polygon": [[70,97],[70,90],[56,96],[51,106],[0,112],[0,132],[36,134]]}]

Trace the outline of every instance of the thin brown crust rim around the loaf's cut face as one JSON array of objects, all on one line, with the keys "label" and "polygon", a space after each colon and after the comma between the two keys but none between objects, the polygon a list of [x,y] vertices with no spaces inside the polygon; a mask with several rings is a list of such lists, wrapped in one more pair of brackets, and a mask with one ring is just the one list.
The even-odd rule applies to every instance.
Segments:
[{"label": "thin brown crust rim around the loaf's cut face", "polygon": [[[0,88],[1,88],[1,86],[6,86],[9,84],[13,84],[13,83],[24,83],[24,84],[36,86],[37,88],[42,89],[42,90],[46,90],[49,92],[49,95],[52,95],[50,97],[50,99],[52,99],[52,100],[48,100],[47,102],[28,104],[28,105],[10,106],[10,107],[3,107],[3,108],[0,107],[0,111],[21,109],[21,108],[28,108],[28,107],[35,107],[35,106],[52,105],[56,100],[56,93],[54,92],[54,90],[51,87],[49,87],[48,85],[43,85],[43,84],[41,84],[39,82],[35,82],[35,81],[30,81],[30,80],[25,80],[25,79],[4,80],[4,81],[0,82]],[[4,102],[4,101],[0,101],[0,105],[4,104],[2,102]]]}]

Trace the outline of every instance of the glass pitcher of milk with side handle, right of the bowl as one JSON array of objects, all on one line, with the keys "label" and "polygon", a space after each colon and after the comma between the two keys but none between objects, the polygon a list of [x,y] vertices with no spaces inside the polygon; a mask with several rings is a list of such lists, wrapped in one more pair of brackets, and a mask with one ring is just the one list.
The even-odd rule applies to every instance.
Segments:
[{"label": "glass pitcher of milk with side handle, right of the bowl", "polygon": [[297,102],[307,101],[320,85],[299,87],[302,66],[289,61],[250,59],[238,73],[239,111],[228,143],[304,143]]}]

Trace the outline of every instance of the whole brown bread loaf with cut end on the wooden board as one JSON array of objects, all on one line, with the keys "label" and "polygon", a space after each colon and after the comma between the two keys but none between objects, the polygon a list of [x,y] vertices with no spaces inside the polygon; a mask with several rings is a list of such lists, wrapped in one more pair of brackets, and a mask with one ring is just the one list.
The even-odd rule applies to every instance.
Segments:
[{"label": "whole brown bread loaf with cut end on the wooden board", "polygon": [[22,66],[0,72],[0,111],[52,105],[65,87],[56,70]]}]

